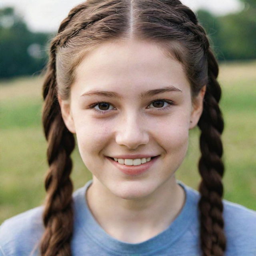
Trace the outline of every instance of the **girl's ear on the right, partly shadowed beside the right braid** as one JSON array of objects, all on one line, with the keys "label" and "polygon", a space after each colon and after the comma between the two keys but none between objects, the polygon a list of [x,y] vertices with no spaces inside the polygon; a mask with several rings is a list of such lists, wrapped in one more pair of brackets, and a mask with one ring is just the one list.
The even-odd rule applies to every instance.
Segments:
[{"label": "girl's ear on the right, partly shadowed beside the right braid", "polygon": [[202,115],[202,112],[204,109],[205,92],[206,92],[206,85],[202,87],[202,89],[198,93],[198,96],[196,96],[196,98],[193,100],[189,129],[193,129],[197,125],[200,119],[200,116]]}]

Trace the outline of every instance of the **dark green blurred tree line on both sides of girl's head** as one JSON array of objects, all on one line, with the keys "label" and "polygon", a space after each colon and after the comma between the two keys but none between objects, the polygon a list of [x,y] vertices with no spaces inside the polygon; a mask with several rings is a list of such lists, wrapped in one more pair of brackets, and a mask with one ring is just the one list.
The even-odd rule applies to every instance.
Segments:
[{"label": "dark green blurred tree line on both sides of girl's head", "polygon": [[[244,9],[234,14],[197,12],[219,61],[256,58],[256,0],[240,1]],[[47,62],[51,37],[28,30],[12,7],[0,9],[0,78],[40,72]]]}]

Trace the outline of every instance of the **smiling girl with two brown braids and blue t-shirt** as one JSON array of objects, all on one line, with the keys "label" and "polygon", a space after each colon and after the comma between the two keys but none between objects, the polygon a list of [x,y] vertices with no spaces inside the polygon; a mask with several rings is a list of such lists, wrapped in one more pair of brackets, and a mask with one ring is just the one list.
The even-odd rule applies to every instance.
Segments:
[{"label": "smiling girl with two brown braids and blue t-shirt", "polygon": [[[178,0],[88,0],[50,46],[47,198],[0,228],[0,255],[255,256],[256,212],[222,200],[218,64]],[[201,130],[199,193],[176,180]],[[93,179],[72,194],[76,134]]]}]

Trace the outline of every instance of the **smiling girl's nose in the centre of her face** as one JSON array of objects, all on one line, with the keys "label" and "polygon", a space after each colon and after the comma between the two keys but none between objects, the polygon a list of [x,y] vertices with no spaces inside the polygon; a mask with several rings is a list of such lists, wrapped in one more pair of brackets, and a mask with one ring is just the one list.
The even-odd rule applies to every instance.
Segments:
[{"label": "smiling girl's nose in the centre of her face", "polygon": [[120,118],[116,131],[116,143],[136,149],[138,146],[148,144],[149,134],[144,118],[136,114],[128,114]]}]

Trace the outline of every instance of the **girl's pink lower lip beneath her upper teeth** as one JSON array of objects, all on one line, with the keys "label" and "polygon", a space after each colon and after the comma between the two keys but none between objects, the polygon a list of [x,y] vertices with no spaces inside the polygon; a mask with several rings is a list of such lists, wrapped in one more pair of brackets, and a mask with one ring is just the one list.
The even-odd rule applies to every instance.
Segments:
[{"label": "girl's pink lower lip beneath her upper teeth", "polygon": [[[114,166],[116,168],[118,168],[121,172],[123,172],[124,174],[130,175],[130,176],[136,176],[136,175],[140,175],[140,174],[148,171],[150,169],[150,167],[154,164],[154,162],[156,162],[156,160],[159,158],[159,156],[156,156],[149,162],[146,162],[146,163],[140,164],[140,165],[119,164],[118,162],[116,162],[109,156],[106,156],[106,158],[108,158],[108,160],[112,164],[114,164]],[[136,158],[126,158],[126,159],[136,159]]]}]

